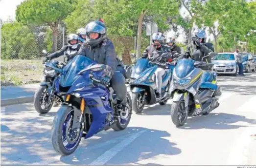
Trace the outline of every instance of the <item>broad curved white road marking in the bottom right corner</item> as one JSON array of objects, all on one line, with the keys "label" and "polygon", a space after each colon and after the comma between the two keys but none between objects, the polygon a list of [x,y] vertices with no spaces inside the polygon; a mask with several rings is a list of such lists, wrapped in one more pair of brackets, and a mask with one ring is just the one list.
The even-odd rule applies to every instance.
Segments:
[{"label": "broad curved white road marking in the bottom right corner", "polygon": [[236,140],[227,161],[227,165],[247,165],[248,162],[248,145],[250,136],[256,134],[256,127],[247,127],[245,131]]}]

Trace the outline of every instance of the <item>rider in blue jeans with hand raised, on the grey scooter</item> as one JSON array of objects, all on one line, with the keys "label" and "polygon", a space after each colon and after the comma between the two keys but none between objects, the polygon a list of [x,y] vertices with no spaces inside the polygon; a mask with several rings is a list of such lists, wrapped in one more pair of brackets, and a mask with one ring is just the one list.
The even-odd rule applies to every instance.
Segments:
[{"label": "rider in blue jeans with hand raised, on the grey scooter", "polygon": [[[195,59],[195,61],[201,61],[203,56],[209,55],[212,51],[207,47],[206,43],[206,32],[204,30],[198,29],[195,31],[195,34],[192,36],[192,44],[186,47],[186,54],[184,56],[180,56],[179,58],[183,57],[191,57]],[[206,57],[202,61],[211,63],[211,58]],[[211,70],[204,71],[201,79],[201,86],[206,86],[207,88],[211,88],[215,90],[213,96],[220,96],[221,90],[220,87],[216,84],[209,82],[209,79],[214,74]]]}]

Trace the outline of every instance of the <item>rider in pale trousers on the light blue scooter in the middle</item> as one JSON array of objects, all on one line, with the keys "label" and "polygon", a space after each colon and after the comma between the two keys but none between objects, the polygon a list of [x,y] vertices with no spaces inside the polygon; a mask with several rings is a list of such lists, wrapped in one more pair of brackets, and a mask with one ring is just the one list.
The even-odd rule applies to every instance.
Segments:
[{"label": "rider in pale trousers on the light blue scooter in the middle", "polygon": [[[163,45],[163,40],[164,40],[164,37],[163,37],[163,34],[162,33],[154,33],[151,37],[151,42],[152,42],[152,45],[148,46],[144,52],[142,53],[142,58],[149,58],[149,60],[151,60],[151,55],[154,53],[154,52],[157,52],[159,54],[159,56],[161,56],[163,53],[167,53],[169,52],[170,50]],[[167,58],[168,59],[168,58]],[[155,75],[156,75],[156,85],[157,85],[157,90],[156,90],[156,96],[157,98],[160,98],[162,97],[162,94],[161,94],[161,87],[162,87],[162,76],[164,75],[165,73],[165,64],[159,64],[159,63],[156,63],[158,65],[158,68],[155,72]]]}]

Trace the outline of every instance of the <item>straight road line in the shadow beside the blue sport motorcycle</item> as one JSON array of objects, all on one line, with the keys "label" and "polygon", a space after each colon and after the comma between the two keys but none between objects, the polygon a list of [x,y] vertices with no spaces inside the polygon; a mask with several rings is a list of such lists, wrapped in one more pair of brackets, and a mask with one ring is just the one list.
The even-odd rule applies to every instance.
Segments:
[{"label": "straight road line in the shadow beside the blue sport motorcycle", "polygon": [[95,159],[90,165],[104,165],[104,164],[106,164],[118,152],[120,152],[122,149],[127,147],[130,143],[132,143],[136,138],[138,138],[145,131],[146,130],[142,130],[140,132],[134,133],[130,137],[127,137],[127,139],[124,139],[123,141],[119,142],[116,146],[107,150],[105,153],[103,153],[101,156],[99,156],[97,159]]}]

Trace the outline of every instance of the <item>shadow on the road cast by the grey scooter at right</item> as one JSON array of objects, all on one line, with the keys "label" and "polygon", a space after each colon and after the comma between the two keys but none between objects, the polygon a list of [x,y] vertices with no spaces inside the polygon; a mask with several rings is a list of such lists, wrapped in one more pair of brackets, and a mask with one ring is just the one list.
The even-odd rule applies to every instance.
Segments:
[{"label": "shadow on the road cast by the grey scooter at right", "polygon": [[[177,127],[185,130],[194,129],[213,129],[213,130],[229,130],[238,129],[240,127],[247,127],[243,125],[233,125],[236,122],[246,122],[256,124],[255,119],[246,118],[243,115],[229,114],[229,113],[209,113],[208,115],[193,116],[186,120],[186,124]],[[232,125],[231,125],[232,124]]]}]

